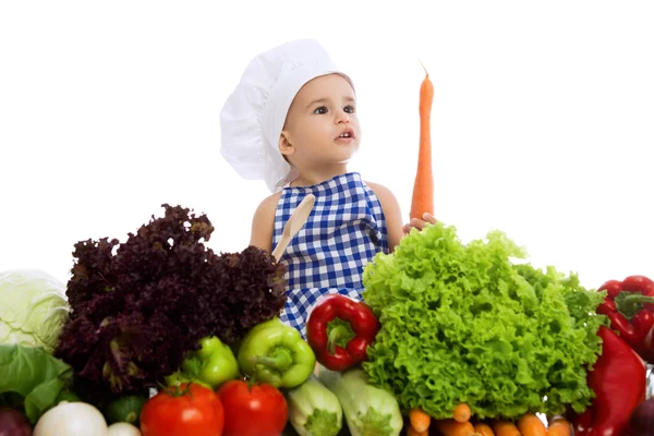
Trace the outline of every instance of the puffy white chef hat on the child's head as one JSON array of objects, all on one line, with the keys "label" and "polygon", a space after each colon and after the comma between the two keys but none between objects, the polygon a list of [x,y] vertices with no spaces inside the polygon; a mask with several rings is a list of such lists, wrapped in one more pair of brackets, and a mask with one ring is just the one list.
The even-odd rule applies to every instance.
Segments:
[{"label": "puffy white chef hat on the child's head", "polygon": [[241,177],[265,180],[271,192],[298,177],[279,153],[279,136],[300,88],[331,73],[352,84],[314,39],[286,43],[250,62],[220,112],[220,153]]}]

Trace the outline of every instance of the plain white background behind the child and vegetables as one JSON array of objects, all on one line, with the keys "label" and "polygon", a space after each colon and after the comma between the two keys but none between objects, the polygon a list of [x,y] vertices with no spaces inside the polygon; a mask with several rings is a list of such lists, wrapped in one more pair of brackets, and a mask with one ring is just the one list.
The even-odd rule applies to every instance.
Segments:
[{"label": "plain white background behind the child and vegetables", "polygon": [[351,169],[407,216],[417,100],[435,85],[435,205],[584,286],[654,278],[654,2],[0,3],[0,270],[68,280],[73,244],[124,241],[162,203],[243,250],[268,195],[225,160],[219,112],[256,53],[315,37],[355,81]]}]

